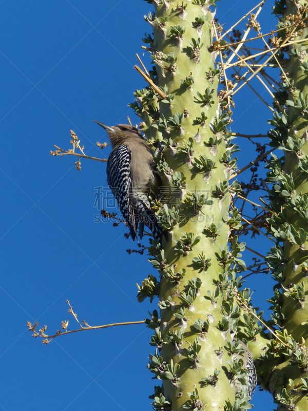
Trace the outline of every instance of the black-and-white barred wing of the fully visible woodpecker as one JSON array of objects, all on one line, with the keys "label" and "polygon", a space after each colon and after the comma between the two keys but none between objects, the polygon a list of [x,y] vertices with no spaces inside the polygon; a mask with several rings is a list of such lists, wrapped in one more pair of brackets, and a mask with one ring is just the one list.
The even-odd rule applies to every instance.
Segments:
[{"label": "black-and-white barred wing of the fully visible woodpecker", "polygon": [[121,144],[115,148],[107,162],[107,182],[117,199],[120,211],[125,219],[132,239],[136,238],[136,221],[132,207],[132,180],[130,177],[131,152]]}]

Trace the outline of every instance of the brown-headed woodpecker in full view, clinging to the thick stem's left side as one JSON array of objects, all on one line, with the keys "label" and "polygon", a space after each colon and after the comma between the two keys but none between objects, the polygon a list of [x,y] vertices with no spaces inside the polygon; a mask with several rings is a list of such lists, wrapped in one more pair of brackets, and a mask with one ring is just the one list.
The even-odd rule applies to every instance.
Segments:
[{"label": "brown-headed woodpecker in full view, clinging to the thick stem's left side", "polygon": [[146,225],[157,241],[162,240],[162,229],[152,212],[148,195],[159,194],[161,178],[151,169],[153,151],[138,128],[128,124],[108,126],[93,120],[108,133],[112,151],[107,162],[107,182],[117,198],[121,213],[134,241],[142,239]]}]

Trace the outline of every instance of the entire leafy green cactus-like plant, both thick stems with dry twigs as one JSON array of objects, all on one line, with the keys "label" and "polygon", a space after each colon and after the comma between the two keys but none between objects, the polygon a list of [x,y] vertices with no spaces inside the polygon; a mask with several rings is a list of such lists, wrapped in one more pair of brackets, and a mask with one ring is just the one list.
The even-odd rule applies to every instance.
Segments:
[{"label": "entire leafy green cactus-like plant, both thick stems with dry twigs", "polygon": [[[283,150],[283,156],[272,153],[266,165],[263,185],[270,206],[253,202],[266,214],[255,217],[252,224],[235,207],[234,198],[246,198],[239,182],[230,179],[271,151],[234,175],[234,154],[239,150],[228,126],[232,96],[248,83],[245,76],[252,67],[252,78],[264,67],[253,59],[246,74],[235,77],[236,84],[227,81],[226,66],[252,58],[243,54],[238,63],[230,64],[229,58],[224,64],[241,36],[234,30],[230,44],[222,39],[222,27],[213,13],[217,0],[146,1],[155,8],[144,16],[152,33],[145,34],[143,48],[151,55],[152,69],[142,73],[149,86],[134,92],[130,107],[155,149],[153,167],[163,187],[159,198],[150,197],[151,207],[168,232],[162,247],[150,240],[149,261],[158,276],[149,274],[138,285],[137,295],[139,302],[159,297],[160,316],[154,310],[151,319],[145,320],[154,332],[150,346],[156,347],[149,354],[148,369],[162,382],[150,396],[153,409],[251,408],[248,389],[243,388],[253,367],[251,360],[245,368],[245,343],[255,360],[259,385],[273,394],[278,410],[308,410],[308,4],[275,0],[278,30],[267,44],[264,41],[266,50],[257,53],[269,53],[268,65],[282,71],[280,89],[274,94],[269,90],[275,110],[269,107],[274,114],[268,121],[273,127],[268,136],[270,145]],[[252,11],[259,7],[259,12],[264,1]],[[253,28],[258,32],[256,39],[263,39],[256,17],[249,15],[245,36]],[[276,50],[272,54],[268,51],[271,44],[271,51]],[[216,63],[218,56],[220,64]],[[73,154],[79,161],[90,158],[74,134],[72,143],[81,155],[59,147],[51,154]],[[259,309],[253,308],[250,290],[242,288],[245,243],[239,235],[247,233],[247,225],[262,234],[258,227],[266,227],[275,243],[266,256],[277,281],[268,300],[272,319],[267,324],[262,312],[257,314]],[[146,249],[128,251],[143,253]],[[129,324],[137,323],[142,322]],[[128,323],[117,325],[121,324]],[[46,338],[46,344],[57,337],[49,337],[45,329],[37,332],[35,327],[29,325],[35,337],[41,333]]]}]

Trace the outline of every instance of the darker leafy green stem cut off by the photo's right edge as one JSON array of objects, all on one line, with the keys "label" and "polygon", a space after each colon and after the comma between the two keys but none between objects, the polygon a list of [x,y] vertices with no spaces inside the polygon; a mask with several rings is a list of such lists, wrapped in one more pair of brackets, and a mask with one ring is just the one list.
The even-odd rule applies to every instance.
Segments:
[{"label": "darker leafy green stem cut off by the photo's right edge", "polygon": [[[283,401],[281,396],[284,393],[288,396],[288,410],[307,409],[307,398],[305,394],[302,394],[300,388],[301,383],[307,380],[307,343],[305,342],[307,338],[307,307],[304,301],[306,300],[307,294],[307,276],[306,276],[306,265],[307,265],[307,239],[302,238],[301,241],[292,242],[289,238],[277,238],[276,233],[283,231],[283,227],[291,227],[294,229],[294,237],[298,233],[307,232],[307,219],[302,217],[300,213],[297,213],[296,200],[299,196],[307,195],[307,179],[306,172],[301,169],[299,164],[299,157],[305,158],[307,155],[307,140],[305,138],[305,126],[307,121],[307,115],[303,109],[297,110],[293,107],[297,104],[297,99],[303,99],[305,101],[308,96],[307,88],[307,73],[302,70],[302,64],[307,64],[307,23],[302,24],[302,13],[307,15],[308,3],[306,0],[287,0],[286,2],[280,2],[280,4],[285,4],[286,9],[280,9],[277,12],[277,16],[280,19],[279,24],[285,25],[285,22],[290,22],[294,20],[299,24],[298,30],[294,32],[292,30],[293,38],[299,38],[293,42],[293,44],[304,43],[300,47],[285,48],[285,44],[282,44],[280,48],[282,49],[281,55],[279,56],[279,61],[283,62],[282,66],[285,67],[285,74],[287,76],[287,81],[284,81],[285,77],[280,78],[281,83],[280,90],[284,89],[284,86],[292,85],[289,89],[286,89],[285,97],[288,99],[285,101],[283,98],[282,102],[284,105],[283,112],[288,120],[287,124],[282,125],[279,128],[279,133],[281,133],[281,145],[287,141],[288,138],[294,138],[295,144],[299,143],[302,139],[303,144],[301,145],[300,156],[297,150],[288,152],[287,147],[284,148],[283,155],[278,159],[279,164],[277,164],[277,158],[273,158],[269,164],[269,170],[271,172],[267,175],[267,184],[269,184],[268,199],[271,202],[272,212],[275,210],[278,213],[278,218],[273,218],[269,222],[269,233],[276,237],[277,246],[281,251],[281,259],[279,260],[277,266],[271,264],[269,260],[273,258],[275,251],[271,248],[268,252],[267,260],[268,266],[271,269],[271,275],[276,281],[274,286],[275,294],[271,298],[271,302],[274,302],[271,309],[273,310],[272,319],[275,325],[277,325],[285,336],[287,336],[287,342],[293,344],[296,352],[294,356],[290,353],[287,357],[278,358],[277,367],[272,368],[272,375],[268,379],[266,389],[271,392],[276,397],[278,404],[278,410],[283,411],[287,409],[285,407],[286,402]],[[299,22],[300,20],[300,22]],[[300,24],[301,23],[301,24]],[[287,39],[287,41],[290,40]],[[276,43],[281,41],[281,39],[276,39]],[[283,74],[283,72],[282,72]],[[291,101],[290,105],[288,104]],[[292,106],[293,103],[293,106]],[[279,116],[281,111],[277,110],[277,115]],[[277,132],[278,127],[275,126],[275,132]],[[275,137],[273,135],[270,138],[273,142]],[[291,176],[293,179],[292,190],[290,191],[290,197],[286,196],[283,199],[279,199],[275,193],[275,181],[271,181],[271,176],[276,173],[277,164],[277,175]],[[275,171],[274,171],[275,170]],[[272,173],[272,174],[271,174]],[[274,179],[275,180],[275,177]],[[282,184],[281,184],[282,185]],[[302,206],[301,206],[302,207]],[[306,212],[307,206],[303,207]],[[283,216],[280,220],[280,216]],[[274,217],[274,216],[273,216]],[[272,221],[275,221],[274,223]],[[277,223],[277,224],[276,224]],[[275,257],[274,257],[275,258]],[[277,260],[277,261],[278,261]],[[298,292],[300,290],[300,292]],[[276,311],[276,308],[277,311]],[[284,338],[284,337],[283,337]],[[301,339],[301,344],[299,343]],[[267,352],[264,355],[269,358],[273,353],[273,346],[268,347]],[[275,353],[275,351],[274,351]],[[281,384],[279,387],[276,386],[276,381],[280,379]],[[290,384],[290,379],[292,383]]]}]

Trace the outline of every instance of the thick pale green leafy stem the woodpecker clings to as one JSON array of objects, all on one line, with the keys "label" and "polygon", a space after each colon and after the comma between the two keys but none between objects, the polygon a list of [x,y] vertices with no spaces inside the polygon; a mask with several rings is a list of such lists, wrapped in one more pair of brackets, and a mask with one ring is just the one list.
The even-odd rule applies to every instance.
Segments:
[{"label": "thick pale green leafy stem the woodpecker clings to", "polygon": [[[216,2],[148,3],[155,14],[145,16],[153,33],[144,41],[154,65],[152,80],[166,96],[153,97],[147,87],[136,91],[130,106],[153,147],[163,144],[156,163],[166,177],[167,195],[152,205],[170,232],[161,252],[150,250],[161,277],[161,323],[151,339],[158,349],[148,367],[163,382],[162,392],[151,398],[155,409],[165,400],[174,411],[228,409],[228,404],[233,409],[249,401],[245,395],[239,400],[235,389],[236,379],[245,384],[247,370],[225,347],[232,344],[239,321],[245,321],[238,298],[251,303],[249,290],[238,291],[236,279],[245,270],[240,258],[245,245],[235,236],[228,247],[235,226],[229,198],[239,185],[228,183],[237,146],[227,129],[230,105],[218,96],[222,73],[215,64],[217,27],[210,10]],[[146,279],[139,301],[152,299],[157,284],[152,276]],[[254,337],[256,325],[246,317]],[[250,337],[243,335],[246,341]]]}]

